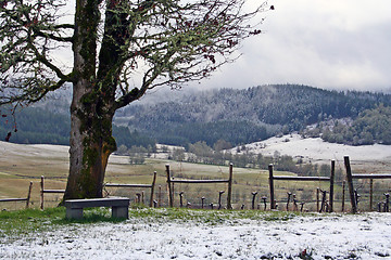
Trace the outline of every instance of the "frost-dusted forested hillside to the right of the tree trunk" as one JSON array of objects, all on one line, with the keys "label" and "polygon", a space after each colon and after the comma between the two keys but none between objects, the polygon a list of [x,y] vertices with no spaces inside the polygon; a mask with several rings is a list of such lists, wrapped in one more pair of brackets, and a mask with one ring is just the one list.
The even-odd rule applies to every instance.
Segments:
[{"label": "frost-dusted forested hillside to the right of the tree trunk", "polygon": [[130,129],[166,144],[205,141],[213,146],[223,139],[238,145],[300,131],[330,118],[355,118],[365,109],[390,103],[390,95],[382,93],[278,84],[205,91],[176,102],[133,105],[117,113],[116,119],[127,118]]}]

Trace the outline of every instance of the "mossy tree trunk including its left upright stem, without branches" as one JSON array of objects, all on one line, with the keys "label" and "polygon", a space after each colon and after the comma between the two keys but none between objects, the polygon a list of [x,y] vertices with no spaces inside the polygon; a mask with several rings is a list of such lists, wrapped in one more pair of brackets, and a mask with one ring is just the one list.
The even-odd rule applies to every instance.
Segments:
[{"label": "mossy tree trunk including its left upright stem, without branches", "polygon": [[70,174],[64,199],[102,197],[112,136],[114,94],[96,77],[99,0],[77,0],[73,42]]}]

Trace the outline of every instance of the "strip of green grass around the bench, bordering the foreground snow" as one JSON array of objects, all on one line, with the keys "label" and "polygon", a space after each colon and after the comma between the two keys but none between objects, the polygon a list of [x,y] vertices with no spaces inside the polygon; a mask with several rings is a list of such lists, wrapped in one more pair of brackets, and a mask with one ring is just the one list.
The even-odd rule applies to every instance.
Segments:
[{"label": "strip of green grass around the bench, bordering the foreground snow", "polygon": [[[305,213],[310,214],[310,213]],[[91,224],[99,222],[188,222],[209,225],[235,224],[239,220],[287,221],[300,212],[258,211],[258,210],[200,210],[182,208],[146,208],[134,207],[129,211],[129,220],[111,218],[110,208],[91,208],[84,211],[83,220],[65,219],[65,208],[23,209],[0,212],[0,239],[53,230],[55,226],[70,224]],[[1,240],[0,240],[1,243]]]}]

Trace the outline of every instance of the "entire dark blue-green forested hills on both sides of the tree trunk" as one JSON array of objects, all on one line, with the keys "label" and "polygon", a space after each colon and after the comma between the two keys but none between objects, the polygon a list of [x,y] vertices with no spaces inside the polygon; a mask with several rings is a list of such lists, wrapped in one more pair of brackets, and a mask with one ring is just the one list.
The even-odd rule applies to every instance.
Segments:
[{"label": "entire dark blue-green forested hills on both sides of the tree trunk", "polygon": [[[171,93],[178,94],[176,91]],[[370,143],[370,133],[371,143],[388,143],[380,138],[388,134],[381,130],[383,128],[377,127],[375,131],[366,125],[389,118],[389,113],[382,112],[380,116],[380,112],[370,109],[380,104],[382,110],[389,109],[390,98],[383,93],[338,92],[297,84],[211,90],[184,94],[181,99],[173,96],[172,101],[141,102],[127,106],[116,113],[114,123],[118,127],[114,127],[114,136],[118,146],[124,144],[127,147],[154,146],[155,142],[187,147],[199,141],[213,147],[223,140],[236,146],[301,131],[312,123],[327,126],[320,122],[362,118],[356,125],[350,126],[353,128],[349,131],[342,131],[342,126],[328,128],[325,140],[360,145]],[[12,131],[11,142],[67,144],[70,115],[68,109],[60,109],[62,104],[64,102],[53,101],[46,106],[28,107],[17,113],[17,132],[12,131],[13,118],[2,117],[1,136]],[[319,136],[323,130],[318,129],[307,134]],[[354,139],[355,135],[358,138]]]}]

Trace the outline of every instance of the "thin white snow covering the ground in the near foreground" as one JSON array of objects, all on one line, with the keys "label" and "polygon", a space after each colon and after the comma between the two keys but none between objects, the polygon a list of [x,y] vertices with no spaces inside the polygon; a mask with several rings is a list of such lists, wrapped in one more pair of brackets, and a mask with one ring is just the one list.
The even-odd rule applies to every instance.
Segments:
[{"label": "thin white snow covering the ground in the near foreground", "polygon": [[[161,209],[164,210],[164,209]],[[70,224],[0,238],[0,259],[390,259],[391,214],[314,214],[289,220],[129,219]]]}]

